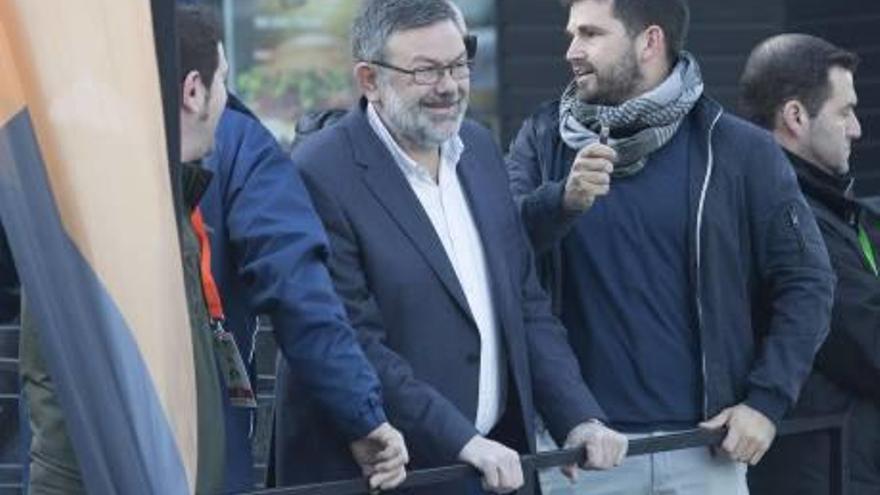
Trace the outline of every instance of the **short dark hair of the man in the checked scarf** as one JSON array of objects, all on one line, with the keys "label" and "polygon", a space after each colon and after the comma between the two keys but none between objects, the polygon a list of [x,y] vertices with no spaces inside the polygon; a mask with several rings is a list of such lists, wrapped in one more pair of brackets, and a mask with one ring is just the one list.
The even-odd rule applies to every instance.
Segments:
[{"label": "short dark hair of the man in the checked scarf", "polygon": [[[562,0],[562,5],[571,7],[587,0]],[[614,17],[620,19],[630,37],[641,33],[649,26],[659,26],[666,37],[666,58],[674,64],[684,50],[691,10],[687,0],[590,0],[593,2],[613,2]]]}]

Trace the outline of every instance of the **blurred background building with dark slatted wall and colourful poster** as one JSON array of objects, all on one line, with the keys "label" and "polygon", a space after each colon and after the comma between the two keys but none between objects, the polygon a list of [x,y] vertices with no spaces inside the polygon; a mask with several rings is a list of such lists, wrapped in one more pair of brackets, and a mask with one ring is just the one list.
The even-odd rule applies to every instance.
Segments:
[{"label": "blurred background building with dark slatted wall and colourful poster", "polygon": [[[355,101],[348,31],[358,0],[208,0],[223,13],[231,87],[282,143],[305,112]],[[566,12],[555,0],[456,0],[480,38],[472,116],[507,143],[539,102],[568,82]],[[862,56],[857,77],[864,138],[854,151],[863,194],[880,193],[880,1],[694,0],[689,50],[708,92],[736,108],[736,83],[751,48],[801,31]],[[873,170],[872,170],[873,165]]]}]

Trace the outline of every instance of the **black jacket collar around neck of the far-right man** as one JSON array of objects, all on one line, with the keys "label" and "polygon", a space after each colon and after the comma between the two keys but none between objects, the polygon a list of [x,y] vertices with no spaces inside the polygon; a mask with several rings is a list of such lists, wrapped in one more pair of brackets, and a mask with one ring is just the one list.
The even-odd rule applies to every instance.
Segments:
[{"label": "black jacket collar around neck of the far-right man", "polygon": [[785,150],[797,174],[798,184],[805,195],[823,204],[835,215],[855,224],[860,207],[851,197],[853,177],[850,174],[834,176]]}]

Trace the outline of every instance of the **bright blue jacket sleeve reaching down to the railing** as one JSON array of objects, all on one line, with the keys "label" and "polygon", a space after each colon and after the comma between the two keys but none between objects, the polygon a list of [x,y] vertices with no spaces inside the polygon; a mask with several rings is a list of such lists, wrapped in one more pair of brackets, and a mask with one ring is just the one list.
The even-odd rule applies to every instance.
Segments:
[{"label": "bright blue jacket sleeve reaching down to the railing", "polygon": [[297,379],[349,440],[386,421],[381,387],[333,291],[327,240],[290,159],[243,119],[225,221],[252,311],[267,314]]}]

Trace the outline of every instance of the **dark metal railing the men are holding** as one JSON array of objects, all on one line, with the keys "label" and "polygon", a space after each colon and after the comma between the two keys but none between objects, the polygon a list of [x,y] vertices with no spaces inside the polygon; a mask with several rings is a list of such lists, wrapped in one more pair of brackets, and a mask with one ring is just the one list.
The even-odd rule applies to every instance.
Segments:
[{"label": "dark metal railing the men are holding", "polygon": [[[783,421],[777,436],[798,435],[802,433],[824,432],[830,435],[830,480],[829,495],[844,495],[847,489],[846,479],[846,436],[844,426],[846,414],[795,418]],[[693,447],[713,447],[721,444],[724,431],[687,430],[669,435],[646,437],[630,440],[627,457],[634,457],[659,452],[688,449]],[[521,457],[523,473],[527,476],[536,470],[580,463],[584,460],[584,449],[575,448],[543,452]],[[465,464],[412,471],[407,474],[406,481],[400,489],[424,488],[438,483],[459,481],[468,477],[478,476],[477,471]],[[332,481],[314,485],[303,485],[287,488],[274,488],[251,492],[250,495],[365,495],[370,489],[364,479]]]}]

